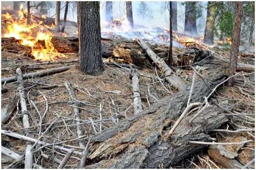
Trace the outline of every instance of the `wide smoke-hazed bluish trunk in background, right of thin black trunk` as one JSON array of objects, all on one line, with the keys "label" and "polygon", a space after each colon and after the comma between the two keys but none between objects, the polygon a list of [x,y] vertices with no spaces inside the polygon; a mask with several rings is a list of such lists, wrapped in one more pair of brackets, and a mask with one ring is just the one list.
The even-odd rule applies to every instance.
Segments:
[{"label": "wide smoke-hazed bluish trunk in background, right of thin black trunk", "polygon": [[189,34],[197,34],[196,2],[186,2],[184,30]]}]

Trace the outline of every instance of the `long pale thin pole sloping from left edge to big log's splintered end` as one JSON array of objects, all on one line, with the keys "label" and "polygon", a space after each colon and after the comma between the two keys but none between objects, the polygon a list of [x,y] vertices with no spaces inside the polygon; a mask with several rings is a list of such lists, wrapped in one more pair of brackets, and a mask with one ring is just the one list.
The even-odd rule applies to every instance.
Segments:
[{"label": "long pale thin pole sloping from left edge to big log's splintered end", "polygon": [[[61,147],[61,146],[58,146],[58,145],[55,145],[55,144],[50,144],[50,143],[47,143],[47,142],[44,142],[44,141],[38,141],[37,139],[35,138],[30,138],[28,136],[24,136],[24,135],[20,135],[18,133],[14,133],[14,132],[11,132],[11,131],[7,131],[7,130],[1,130],[1,133],[3,135],[9,135],[9,136],[12,136],[14,138],[18,138],[18,139],[22,139],[22,140],[25,140],[25,141],[30,141],[30,142],[37,142],[38,144],[41,144],[41,145],[49,145],[49,146],[52,146],[54,147],[55,149],[57,150],[63,150],[65,152],[68,152],[69,149],[65,148],[65,147]],[[81,152],[78,152],[76,150],[74,150],[73,152],[74,154],[77,154],[77,155],[82,155]]]}]

